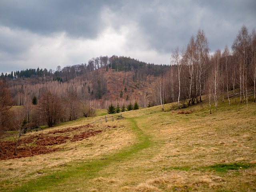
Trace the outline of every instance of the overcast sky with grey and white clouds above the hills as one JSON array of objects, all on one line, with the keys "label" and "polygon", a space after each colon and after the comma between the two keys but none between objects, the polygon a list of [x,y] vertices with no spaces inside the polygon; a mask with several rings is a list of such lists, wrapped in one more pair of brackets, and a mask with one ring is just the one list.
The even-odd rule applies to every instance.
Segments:
[{"label": "overcast sky with grey and white clouds above the hills", "polygon": [[0,0],[0,72],[100,55],[169,64],[198,29],[214,52],[242,25],[256,29],[255,0]]}]

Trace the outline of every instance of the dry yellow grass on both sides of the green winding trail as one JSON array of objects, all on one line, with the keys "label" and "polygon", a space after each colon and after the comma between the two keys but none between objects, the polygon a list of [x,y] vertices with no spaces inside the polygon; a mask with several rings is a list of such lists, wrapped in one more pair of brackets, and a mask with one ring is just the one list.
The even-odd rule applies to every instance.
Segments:
[{"label": "dry yellow grass on both sides of the green winding trail", "polygon": [[[170,104],[164,106],[166,110]],[[186,110],[186,109],[185,109]],[[160,106],[124,112],[134,119],[150,146],[122,161],[104,166],[95,178],[78,182],[76,190],[105,192],[134,191],[221,191],[256,190],[256,166],[217,172],[215,164],[256,164],[256,110],[254,104],[220,105],[210,115],[207,106],[197,105],[189,114],[161,112]],[[78,126],[78,121],[68,126]],[[94,161],[140,142],[129,119],[98,126],[118,125],[87,140],[65,143],[67,150],[1,161],[0,183],[31,180],[46,170],[65,169],[67,162]],[[65,125],[52,129],[65,128]],[[14,183],[15,184],[15,183]],[[71,190],[75,191],[75,190]]]}]

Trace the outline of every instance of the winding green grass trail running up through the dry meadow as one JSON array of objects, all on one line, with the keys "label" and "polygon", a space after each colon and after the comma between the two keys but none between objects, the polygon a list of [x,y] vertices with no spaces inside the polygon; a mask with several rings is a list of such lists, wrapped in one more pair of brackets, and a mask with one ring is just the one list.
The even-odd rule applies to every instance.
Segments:
[{"label": "winding green grass trail running up through the dry meadow", "polygon": [[[117,153],[105,155],[101,159],[84,162],[78,160],[70,162],[64,170],[30,180],[16,188],[14,192],[44,192],[44,191],[75,191],[74,186],[79,182],[87,182],[100,176],[99,172],[108,166],[122,164],[140,157],[140,151],[152,146],[150,136],[145,134],[137,125],[135,118],[127,118],[131,129],[136,134],[138,142]],[[114,170],[113,170],[114,171]]]}]

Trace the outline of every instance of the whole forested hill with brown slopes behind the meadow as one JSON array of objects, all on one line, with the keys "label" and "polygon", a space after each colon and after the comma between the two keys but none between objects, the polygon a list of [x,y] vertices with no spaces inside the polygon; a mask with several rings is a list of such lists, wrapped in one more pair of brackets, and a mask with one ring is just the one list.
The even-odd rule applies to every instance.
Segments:
[{"label": "whole forested hill with brown slopes behind the meadow", "polygon": [[166,74],[170,66],[148,64],[124,56],[100,56],[88,63],[57,66],[56,70],[39,67],[11,72],[1,78],[7,80],[14,105],[30,104],[46,91],[68,100],[75,94],[80,102],[94,108],[107,108],[111,103],[127,105],[138,101],[147,106],[152,86],[158,76]]}]

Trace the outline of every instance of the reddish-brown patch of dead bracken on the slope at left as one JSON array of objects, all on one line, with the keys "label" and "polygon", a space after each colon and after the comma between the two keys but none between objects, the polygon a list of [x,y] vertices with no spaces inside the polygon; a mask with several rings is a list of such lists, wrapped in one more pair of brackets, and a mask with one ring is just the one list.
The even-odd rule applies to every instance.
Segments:
[{"label": "reddish-brown patch of dead bracken on the slope at left", "polygon": [[[29,157],[35,156],[39,154],[47,154],[51,152],[55,152],[60,150],[56,144],[62,144],[65,142],[76,142],[83,140],[88,137],[95,136],[102,132],[102,130],[93,130],[87,129],[94,127],[90,124],[78,126],[74,128],[65,128],[61,130],[53,130],[49,131],[47,134],[36,134],[26,138],[21,138],[19,141],[19,146],[16,151],[16,155],[14,155],[15,151],[15,143],[13,141],[2,141],[0,142],[0,160],[7,160],[7,159],[14,159],[14,158],[22,158],[22,157]],[[79,132],[81,131],[82,132]],[[73,133],[76,131],[76,133]],[[58,135],[53,136],[52,134],[63,134],[63,133],[70,133],[72,136],[66,135]],[[46,147],[47,146],[47,147]]]}]

